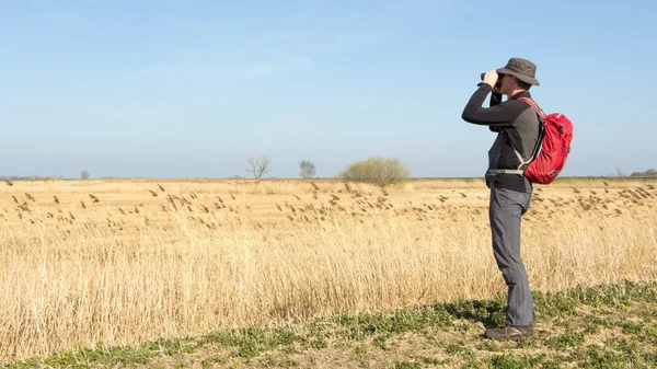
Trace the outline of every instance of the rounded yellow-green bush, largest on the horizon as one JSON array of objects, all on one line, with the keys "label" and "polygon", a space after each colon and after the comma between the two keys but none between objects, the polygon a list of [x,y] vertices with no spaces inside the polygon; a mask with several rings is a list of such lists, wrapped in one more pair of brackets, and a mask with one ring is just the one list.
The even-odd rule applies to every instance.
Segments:
[{"label": "rounded yellow-green bush, largest on the horizon", "polygon": [[369,158],[350,164],[339,177],[385,187],[405,182],[411,177],[411,172],[399,159]]}]

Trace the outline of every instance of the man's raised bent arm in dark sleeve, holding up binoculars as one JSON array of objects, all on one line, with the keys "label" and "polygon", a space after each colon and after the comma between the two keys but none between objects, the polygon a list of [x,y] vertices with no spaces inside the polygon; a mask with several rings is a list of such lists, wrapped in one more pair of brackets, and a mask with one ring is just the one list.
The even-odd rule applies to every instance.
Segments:
[{"label": "man's raised bent arm in dark sleeve, holding up binoculars", "polygon": [[491,127],[510,127],[514,118],[512,112],[509,112],[504,104],[500,104],[502,99],[495,102],[496,97],[491,99],[491,107],[483,107],[486,96],[493,88],[487,83],[480,84],[479,89],[472,94],[470,101],[461,114],[461,118],[468,123],[486,125]]}]

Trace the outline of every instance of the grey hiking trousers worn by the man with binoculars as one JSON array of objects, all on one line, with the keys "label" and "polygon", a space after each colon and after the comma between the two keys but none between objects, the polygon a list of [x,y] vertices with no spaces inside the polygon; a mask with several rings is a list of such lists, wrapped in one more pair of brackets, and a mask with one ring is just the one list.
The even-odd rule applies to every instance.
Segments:
[{"label": "grey hiking trousers worn by the man with binoculars", "polygon": [[529,280],[520,258],[520,222],[529,209],[531,193],[491,187],[488,217],[493,252],[508,287],[507,323],[532,325],[534,307]]}]

